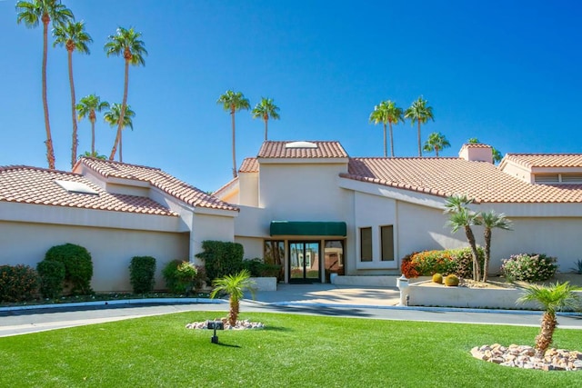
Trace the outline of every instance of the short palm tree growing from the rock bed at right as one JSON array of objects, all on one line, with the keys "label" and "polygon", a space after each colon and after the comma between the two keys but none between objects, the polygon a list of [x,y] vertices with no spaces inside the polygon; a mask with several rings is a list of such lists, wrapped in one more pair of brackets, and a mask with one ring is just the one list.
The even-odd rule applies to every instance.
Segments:
[{"label": "short palm tree growing from the rock bed at right", "polygon": [[534,302],[544,309],[541,328],[536,337],[538,357],[543,357],[552,343],[557,326],[556,313],[561,310],[577,310],[580,307],[580,301],[576,293],[574,293],[574,291],[579,290],[581,289],[572,286],[568,282],[550,284],[549,287],[532,284],[526,288],[525,293],[517,300],[518,303]]}]

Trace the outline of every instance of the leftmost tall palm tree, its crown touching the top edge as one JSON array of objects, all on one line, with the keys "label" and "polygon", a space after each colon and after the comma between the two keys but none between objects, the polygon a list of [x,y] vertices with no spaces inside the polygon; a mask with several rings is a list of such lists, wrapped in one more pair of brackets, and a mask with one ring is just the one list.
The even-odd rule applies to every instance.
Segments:
[{"label": "leftmost tall palm tree, its crown touching the top edge", "polygon": [[51,124],[48,118],[48,101],[46,99],[46,46],[48,41],[48,24],[62,24],[74,20],[75,16],[70,9],[62,5],[60,0],[31,0],[16,3],[16,23],[24,22],[28,28],[34,28],[38,22],[43,23],[43,65],[42,65],[42,95],[43,109],[45,111],[46,132],[46,161],[48,168],[55,169],[55,148],[51,135]]}]

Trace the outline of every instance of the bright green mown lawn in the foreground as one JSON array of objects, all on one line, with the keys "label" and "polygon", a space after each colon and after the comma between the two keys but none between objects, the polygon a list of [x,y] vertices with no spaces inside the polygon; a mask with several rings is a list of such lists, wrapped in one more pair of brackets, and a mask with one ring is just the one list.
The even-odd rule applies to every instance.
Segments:
[{"label": "bright green mown lawn in the foreground", "polygon": [[[0,338],[0,386],[566,387],[582,372],[502,367],[471,357],[486,343],[532,344],[534,327],[243,313],[265,330],[187,330],[222,313],[178,313]],[[577,330],[555,345],[580,350]]]}]

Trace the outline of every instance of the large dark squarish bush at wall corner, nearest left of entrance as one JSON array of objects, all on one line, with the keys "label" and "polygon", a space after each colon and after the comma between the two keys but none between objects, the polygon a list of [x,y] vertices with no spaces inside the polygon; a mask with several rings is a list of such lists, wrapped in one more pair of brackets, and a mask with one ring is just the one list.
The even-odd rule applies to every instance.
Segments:
[{"label": "large dark squarish bush at wall corner, nearest left of entrance", "polygon": [[211,281],[227,274],[237,274],[243,269],[245,250],[241,244],[206,240],[202,242],[202,249],[204,252],[196,257],[204,260]]}]

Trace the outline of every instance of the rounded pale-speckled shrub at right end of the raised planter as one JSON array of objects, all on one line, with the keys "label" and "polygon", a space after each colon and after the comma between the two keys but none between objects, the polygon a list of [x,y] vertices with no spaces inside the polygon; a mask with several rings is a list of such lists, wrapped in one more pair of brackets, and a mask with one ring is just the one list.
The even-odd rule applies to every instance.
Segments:
[{"label": "rounded pale-speckled shrub at right end of the raised planter", "polygon": [[502,260],[501,273],[509,281],[542,282],[556,274],[556,262],[546,254],[513,254]]}]

